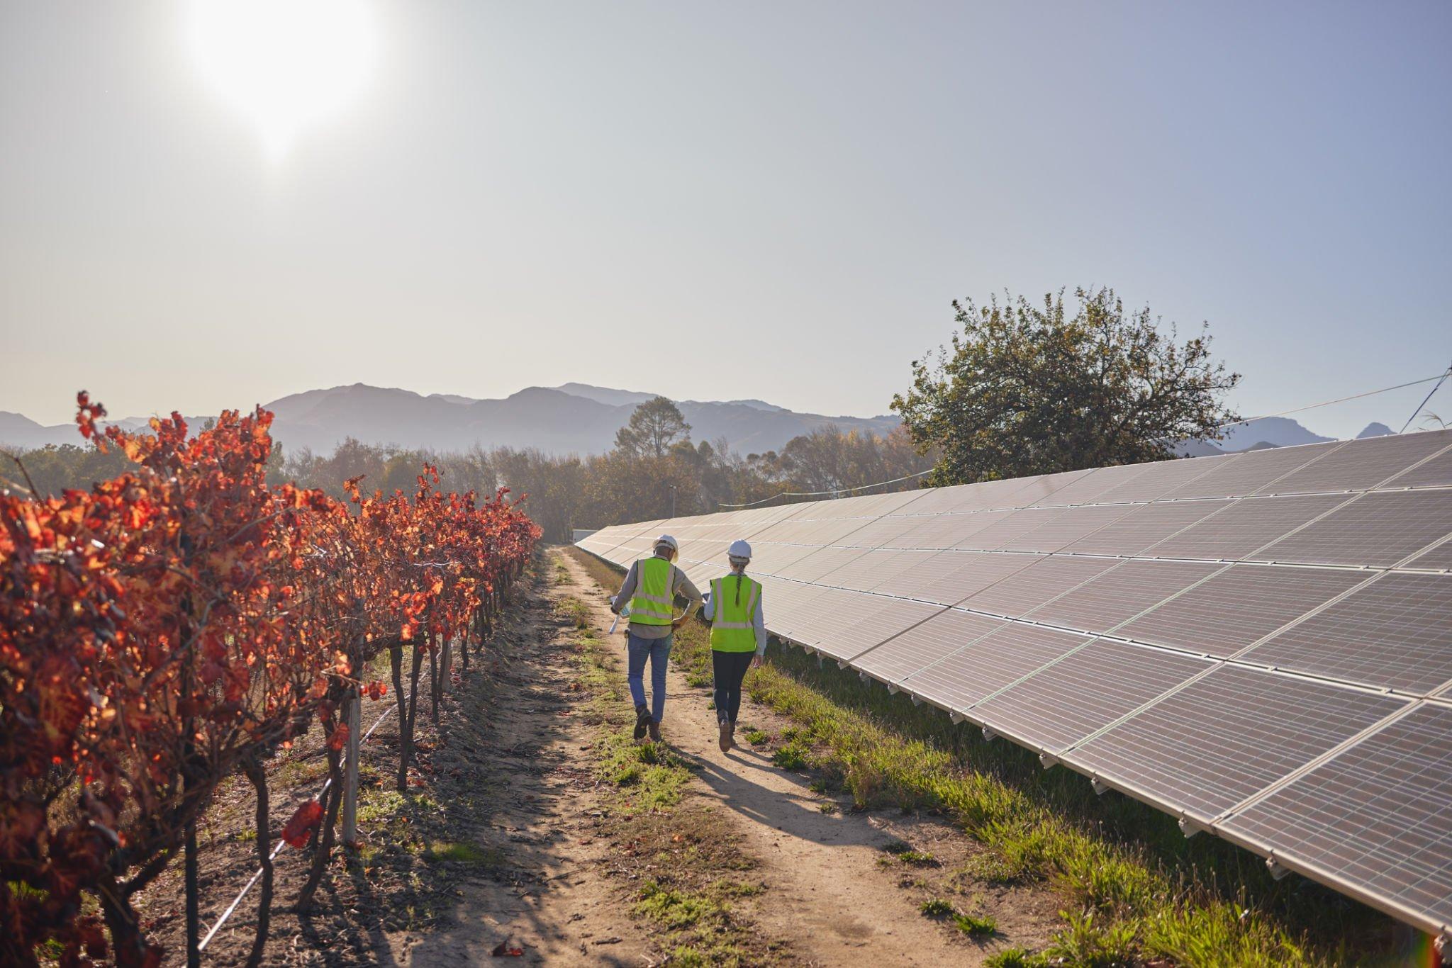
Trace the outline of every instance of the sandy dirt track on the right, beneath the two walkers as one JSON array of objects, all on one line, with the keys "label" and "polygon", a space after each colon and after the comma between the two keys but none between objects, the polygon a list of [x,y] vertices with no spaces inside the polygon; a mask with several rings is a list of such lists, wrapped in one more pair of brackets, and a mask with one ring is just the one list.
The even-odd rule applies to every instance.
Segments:
[{"label": "sandy dirt track on the right, beneath the two walkers", "polygon": [[[560,556],[591,604],[604,633],[610,625],[607,592],[569,556]],[[624,637],[611,646],[624,656]],[[922,916],[919,904],[932,894],[922,878],[893,862],[887,848],[910,843],[942,866],[955,866],[971,848],[951,824],[932,819],[884,820],[845,810],[813,792],[809,778],[778,769],[770,756],[741,747],[717,747],[711,692],[687,685],[671,670],[664,723],[665,740],[698,766],[700,795],[730,816],[743,836],[743,849],[759,858],[767,885],[755,917],[762,930],[790,939],[793,959],[812,965],[941,965],[979,964],[1011,940],[1038,940],[1057,922],[1043,898],[1019,904],[1000,890],[979,901],[992,908],[999,935],[976,942],[955,929]],[[780,734],[790,721],[746,698],[742,724]],[[743,733],[745,730],[739,730]],[[823,805],[832,813],[825,813]],[[987,890],[987,888],[984,888]]]}]

